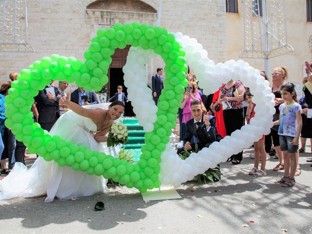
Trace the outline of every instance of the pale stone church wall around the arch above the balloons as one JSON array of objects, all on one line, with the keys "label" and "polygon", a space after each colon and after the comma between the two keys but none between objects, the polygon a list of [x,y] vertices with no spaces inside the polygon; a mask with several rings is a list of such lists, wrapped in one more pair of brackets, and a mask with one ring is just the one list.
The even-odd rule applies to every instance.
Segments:
[{"label": "pale stone church wall around the arch above the balloons", "polygon": [[[109,18],[105,18],[105,14],[95,17],[86,11],[87,5],[92,2],[28,0],[28,41],[36,53],[0,53],[0,81],[7,80],[10,72],[20,72],[44,56],[59,54],[84,60],[83,53],[88,48],[91,35],[101,22],[105,22],[107,27],[115,22],[134,20],[157,25],[157,20],[160,19],[160,26],[166,27],[169,32],[179,31],[196,38],[208,51],[209,58],[215,62],[227,59],[224,0],[145,0],[156,9],[160,17],[152,15],[149,20],[146,15],[125,12],[106,12],[105,14],[111,14]],[[160,58],[151,61],[148,76],[163,65]]]}]

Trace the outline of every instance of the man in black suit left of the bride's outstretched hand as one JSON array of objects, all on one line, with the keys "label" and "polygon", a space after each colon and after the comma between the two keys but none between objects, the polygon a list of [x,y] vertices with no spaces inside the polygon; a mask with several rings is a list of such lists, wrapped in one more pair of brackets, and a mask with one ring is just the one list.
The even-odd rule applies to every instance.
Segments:
[{"label": "man in black suit left of the bride's outstretched hand", "polygon": [[[58,120],[59,114],[59,99],[61,97],[58,88],[53,87],[53,80],[45,89],[40,90],[36,96],[37,110],[39,113],[38,123],[44,130],[50,131],[55,122]],[[51,88],[54,89],[52,94]],[[53,90],[52,89],[52,90]]]}]

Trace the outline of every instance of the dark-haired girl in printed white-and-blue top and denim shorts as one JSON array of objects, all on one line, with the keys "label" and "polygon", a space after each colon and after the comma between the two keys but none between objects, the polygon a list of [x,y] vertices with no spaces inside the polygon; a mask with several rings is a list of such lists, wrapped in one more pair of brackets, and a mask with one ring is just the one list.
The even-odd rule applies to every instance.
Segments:
[{"label": "dark-haired girl in printed white-and-blue top and denim shorts", "polygon": [[281,150],[284,156],[284,176],[276,179],[275,183],[281,183],[283,187],[295,185],[294,174],[297,168],[295,153],[298,151],[298,141],[302,128],[301,106],[296,102],[297,95],[292,83],[284,83],[281,86],[281,96],[284,103],[279,106],[278,135]]}]

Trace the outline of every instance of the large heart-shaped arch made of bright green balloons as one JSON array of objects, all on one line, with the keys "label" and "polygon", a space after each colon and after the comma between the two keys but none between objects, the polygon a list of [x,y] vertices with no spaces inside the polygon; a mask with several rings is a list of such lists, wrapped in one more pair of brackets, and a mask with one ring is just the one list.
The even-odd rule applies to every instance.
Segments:
[{"label": "large heart-shaped arch made of bright green balloons", "polygon": [[[145,134],[146,144],[141,148],[142,154],[137,164],[78,146],[59,136],[52,137],[33,122],[30,109],[34,97],[52,79],[76,82],[86,91],[99,91],[108,82],[107,72],[115,49],[123,49],[126,45],[152,49],[166,64],[166,79],[174,80],[162,91],[154,130]],[[183,99],[184,87],[188,85],[188,67],[184,56],[185,52],[175,36],[168,34],[165,28],[133,22],[124,25],[117,23],[106,30],[99,29],[97,37],[91,40],[89,49],[84,53],[84,63],[73,57],[52,55],[35,61],[20,72],[18,79],[12,82],[9,95],[5,97],[5,126],[12,129],[30,153],[37,153],[46,161],[54,160],[59,166],[70,166],[89,175],[112,178],[142,193],[157,188],[160,156],[169,142],[171,129],[176,126],[176,113]]]}]

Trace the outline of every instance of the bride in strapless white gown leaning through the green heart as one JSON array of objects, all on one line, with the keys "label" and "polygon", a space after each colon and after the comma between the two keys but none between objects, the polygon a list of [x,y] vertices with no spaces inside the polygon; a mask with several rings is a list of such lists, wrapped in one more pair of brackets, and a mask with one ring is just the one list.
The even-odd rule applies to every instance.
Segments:
[{"label": "bride in strapless white gown leaning through the green heart", "polygon": [[[60,104],[65,104],[71,111],[58,119],[50,135],[58,135],[74,144],[109,154],[106,143],[101,142],[107,141],[108,127],[124,111],[123,103],[114,101],[108,110],[104,110],[101,108],[107,107],[107,104],[83,108],[69,100],[69,94],[60,100]],[[52,202],[54,197],[68,200],[103,193],[105,190],[106,180],[103,176],[90,176],[68,166],[61,167],[57,162],[48,162],[42,157],[38,157],[28,170],[22,163],[16,163],[10,174],[0,180],[0,200],[47,195],[45,202]]]}]

